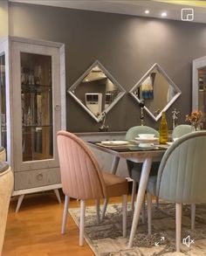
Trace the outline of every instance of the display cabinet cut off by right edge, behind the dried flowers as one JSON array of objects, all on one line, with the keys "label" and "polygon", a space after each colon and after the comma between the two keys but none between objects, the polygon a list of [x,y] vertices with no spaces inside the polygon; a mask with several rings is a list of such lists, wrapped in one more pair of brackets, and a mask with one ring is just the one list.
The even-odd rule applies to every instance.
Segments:
[{"label": "display cabinet cut off by right edge, behind the dried flowers", "polygon": [[193,60],[192,108],[203,112],[202,128],[206,129],[206,56]]}]

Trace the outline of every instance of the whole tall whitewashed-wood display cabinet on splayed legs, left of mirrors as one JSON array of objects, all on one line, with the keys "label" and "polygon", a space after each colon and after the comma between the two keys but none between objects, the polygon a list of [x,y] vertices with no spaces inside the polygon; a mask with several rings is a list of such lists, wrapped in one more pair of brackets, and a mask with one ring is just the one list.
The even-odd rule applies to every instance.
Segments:
[{"label": "whole tall whitewashed-wood display cabinet on splayed legs, left of mirrors", "polygon": [[56,134],[65,129],[63,44],[5,38],[0,44],[0,143],[14,171],[17,211],[25,194],[61,187]]}]

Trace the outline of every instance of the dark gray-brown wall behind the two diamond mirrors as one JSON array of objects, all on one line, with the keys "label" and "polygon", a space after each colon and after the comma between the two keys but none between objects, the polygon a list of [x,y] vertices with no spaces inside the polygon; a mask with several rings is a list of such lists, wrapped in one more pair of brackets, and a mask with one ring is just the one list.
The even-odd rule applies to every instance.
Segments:
[{"label": "dark gray-brown wall behind the two diamond mirrors", "polygon": [[[67,88],[99,59],[127,92],[157,62],[182,90],[168,109],[181,111],[180,123],[191,110],[192,60],[206,55],[206,24],[133,17],[86,10],[10,3],[10,35],[65,43]],[[67,128],[97,131],[97,124],[67,94]],[[107,114],[110,130],[140,124],[140,107],[126,94]],[[158,128],[146,114],[145,122]]]}]

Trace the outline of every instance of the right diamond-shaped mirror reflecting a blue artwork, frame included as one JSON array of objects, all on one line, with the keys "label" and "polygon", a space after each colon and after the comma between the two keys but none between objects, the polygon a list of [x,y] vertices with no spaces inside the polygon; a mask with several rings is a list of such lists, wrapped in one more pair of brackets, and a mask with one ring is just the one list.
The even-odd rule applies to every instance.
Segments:
[{"label": "right diamond-shaped mirror reflecting a blue artwork, frame included", "polygon": [[139,103],[144,100],[144,108],[155,121],[158,121],[161,112],[166,111],[173,104],[181,91],[161,66],[155,63],[129,93]]}]

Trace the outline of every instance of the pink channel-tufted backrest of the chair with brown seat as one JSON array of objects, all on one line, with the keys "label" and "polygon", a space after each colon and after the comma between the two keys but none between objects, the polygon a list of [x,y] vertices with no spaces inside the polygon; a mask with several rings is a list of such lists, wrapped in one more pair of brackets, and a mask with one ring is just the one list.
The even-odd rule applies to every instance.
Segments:
[{"label": "pink channel-tufted backrest of the chair with brown seat", "polygon": [[80,199],[106,197],[100,166],[85,142],[66,131],[59,131],[57,140],[65,195]]}]

